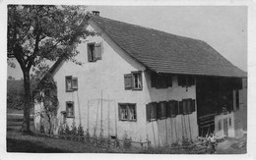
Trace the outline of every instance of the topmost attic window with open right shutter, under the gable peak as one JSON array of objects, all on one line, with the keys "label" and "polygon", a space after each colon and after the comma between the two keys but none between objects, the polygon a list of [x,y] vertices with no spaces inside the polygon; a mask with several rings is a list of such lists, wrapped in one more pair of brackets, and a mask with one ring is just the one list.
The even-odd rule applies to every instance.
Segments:
[{"label": "topmost attic window with open right shutter, under the gable peak", "polygon": [[102,43],[88,44],[88,62],[96,62],[102,57]]}]

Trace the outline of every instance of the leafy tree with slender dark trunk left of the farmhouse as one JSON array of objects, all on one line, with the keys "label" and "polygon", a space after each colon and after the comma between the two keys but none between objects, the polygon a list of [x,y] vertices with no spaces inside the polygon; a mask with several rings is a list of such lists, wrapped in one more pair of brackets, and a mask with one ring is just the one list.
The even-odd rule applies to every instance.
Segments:
[{"label": "leafy tree with slender dark trunk left of the farmhouse", "polygon": [[89,17],[85,11],[83,6],[8,5],[7,56],[18,61],[24,76],[23,132],[31,132],[32,67],[46,60],[74,60],[79,53],[74,44],[81,42],[78,37],[94,34],[86,29]]}]

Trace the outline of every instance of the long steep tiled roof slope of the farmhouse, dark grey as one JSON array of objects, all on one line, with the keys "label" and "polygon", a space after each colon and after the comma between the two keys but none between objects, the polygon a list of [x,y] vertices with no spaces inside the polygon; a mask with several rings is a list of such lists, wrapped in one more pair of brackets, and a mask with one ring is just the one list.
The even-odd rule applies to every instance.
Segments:
[{"label": "long steep tiled roof slope of the farmhouse, dark grey", "polygon": [[91,16],[119,47],[157,73],[245,78],[246,73],[202,40]]}]

